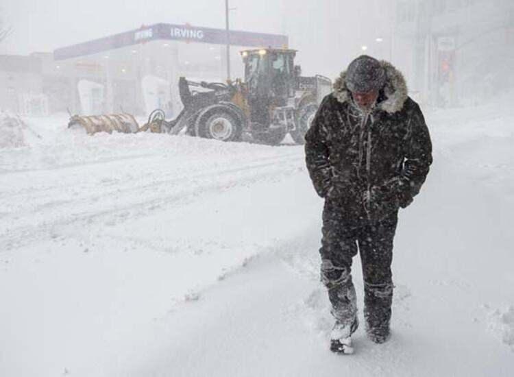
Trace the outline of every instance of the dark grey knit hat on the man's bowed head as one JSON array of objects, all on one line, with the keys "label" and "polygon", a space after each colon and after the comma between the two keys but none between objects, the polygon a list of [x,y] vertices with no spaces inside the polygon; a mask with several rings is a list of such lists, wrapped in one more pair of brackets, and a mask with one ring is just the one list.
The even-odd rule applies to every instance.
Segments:
[{"label": "dark grey knit hat on the man's bowed head", "polygon": [[347,88],[356,93],[380,90],[385,81],[386,75],[382,64],[367,55],[361,55],[350,63],[345,79]]}]

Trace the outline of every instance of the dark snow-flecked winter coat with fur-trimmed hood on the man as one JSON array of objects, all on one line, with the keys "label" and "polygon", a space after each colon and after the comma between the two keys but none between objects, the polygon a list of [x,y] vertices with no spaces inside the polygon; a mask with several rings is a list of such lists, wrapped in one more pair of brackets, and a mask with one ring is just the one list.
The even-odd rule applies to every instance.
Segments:
[{"label": "dark snow-flecked winter coat with fur-trimmed hood on the man", "polygon": [[369,113],[354,104],[343,72],[305,137],[317,193],[349,220],[380,220],[411,204],[432,163],[419,106],[408,97],[402,73],[381,64],[386,84]]}]

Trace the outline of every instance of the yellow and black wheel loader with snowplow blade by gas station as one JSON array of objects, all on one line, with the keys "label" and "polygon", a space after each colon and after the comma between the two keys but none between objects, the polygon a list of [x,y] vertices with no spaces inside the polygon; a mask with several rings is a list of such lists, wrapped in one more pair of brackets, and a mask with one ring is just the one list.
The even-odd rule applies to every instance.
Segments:
[{"label": "yellow and black wheel loader with snowplow blade by gas station", "polygon": [[[290,133],[297,144],[313,121],[321,99],[332,91],[327,77],[303,77],[295,66],[296,50],[254,49],[241,51],[245,63],[245,80],[234,82],[193,82],[180,77],[179,93],[184,108],[178,117],[166,121],[163,110],[151,112],[143,127],[127,122],[127,114],[112,114],[95,119],[72,117],[71,126],[101,122],[94,130],[119,129],[121,132],[168,132],[220,141],[241,141],[247,133],[260,143],[277,145]],[[123,117],[123,119],[120,119]],[[112,124],[111,124],[112,123]],[[131,123],[121,127],[119,123]],[[85,127],[85,126],[84,126]],[[126,130],[125,130],[126,129]],[[94,132],[88,132],[94,133]]]}]

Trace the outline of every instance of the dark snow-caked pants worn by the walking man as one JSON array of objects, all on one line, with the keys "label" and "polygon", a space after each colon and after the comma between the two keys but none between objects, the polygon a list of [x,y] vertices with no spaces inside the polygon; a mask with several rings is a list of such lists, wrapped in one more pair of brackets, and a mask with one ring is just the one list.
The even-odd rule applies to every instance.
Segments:
[{"label": "dark snow-caked pants worn by the walking man", "polygon": [[321,239],[321,281],[328,289],[332,315],[351,326],[357,317],[352,282],[352,258],[357,252],[363,267],[364,317],[369,335],[389,333],[393,280],[391,262],[397,212],[380,221],[345,219],[341,208],[326,203]]}]

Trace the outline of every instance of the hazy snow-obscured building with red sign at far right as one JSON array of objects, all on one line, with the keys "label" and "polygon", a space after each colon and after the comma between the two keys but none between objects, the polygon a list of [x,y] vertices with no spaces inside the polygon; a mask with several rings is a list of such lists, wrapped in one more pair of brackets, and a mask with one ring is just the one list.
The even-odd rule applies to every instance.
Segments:
[{"label": "hazy snow-obscured building with red sign at far right", "polygon": [[394,54],[421,101],[476,104],[514,86],[514,1],[396,0]]}]

